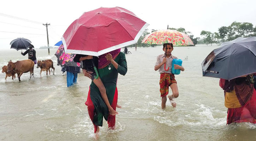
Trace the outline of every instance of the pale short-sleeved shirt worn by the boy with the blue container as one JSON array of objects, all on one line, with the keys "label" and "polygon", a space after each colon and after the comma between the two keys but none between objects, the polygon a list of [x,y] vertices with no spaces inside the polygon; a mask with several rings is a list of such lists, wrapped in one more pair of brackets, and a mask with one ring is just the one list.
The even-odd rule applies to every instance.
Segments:
[{"label": "pale short-sleeved shirt worn by the boy with the blue container", "polygon": [[[161,62],[163,62],[163,59],[165,58],[165,54],[161,54],[161,55],[158,55],[157,58],[156,58],[156,63],[155,63],[155,66],[159,65]],[[165,65],[162,65],[160,68],[159,68],[159,73],[171,73],[172,71],[172,60],[173,59],[178,59],[177,57],[173,56],[171,54],[170,57],[166,58],[167,59],[167,62],[166,62],[166,68],[169,67],[169,70],[168,71],[165,71]]]}]

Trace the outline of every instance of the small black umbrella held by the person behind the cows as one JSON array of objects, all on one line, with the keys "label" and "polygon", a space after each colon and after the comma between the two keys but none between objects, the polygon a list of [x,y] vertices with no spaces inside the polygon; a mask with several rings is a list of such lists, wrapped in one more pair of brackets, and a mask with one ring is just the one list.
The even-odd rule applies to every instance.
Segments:
[{"label": "small black umbrella held by the person behind the cows", "polygon": [[17,38],[12,40],[10,43],[11,48],[16,49],[17,51],[20,49],[28,49],[31,46],[31,41],[25,38]]}]

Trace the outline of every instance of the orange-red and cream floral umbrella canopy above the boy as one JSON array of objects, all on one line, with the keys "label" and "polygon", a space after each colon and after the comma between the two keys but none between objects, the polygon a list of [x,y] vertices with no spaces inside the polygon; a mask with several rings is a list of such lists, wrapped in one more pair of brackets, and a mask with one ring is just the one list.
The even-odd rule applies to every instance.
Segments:
[{"label": "orange-red and cream floral umbrella canopy above the boy", "polygon": [[148,34],[141,43],[164,44],[172,43],[175,46],[194,45],[192,40],[185,33],[175,30],[158,30]]}]

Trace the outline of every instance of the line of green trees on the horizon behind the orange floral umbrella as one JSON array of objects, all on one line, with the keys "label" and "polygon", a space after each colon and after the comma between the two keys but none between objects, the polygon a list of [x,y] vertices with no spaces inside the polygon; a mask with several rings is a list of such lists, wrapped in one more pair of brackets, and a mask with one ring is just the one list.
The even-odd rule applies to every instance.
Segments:
[{"label": "line of green trees on the horizon behind the orange floral umbrella", "polygon": [[[238,37],[251,37],[251,36],[256,36],[256,26],[254,27],[254,25],[252,23],[239,23],[239,22],[233,22],[231,25],[229,26],[221,26],[218,29],[218,32],[210,32],[210,31],[205,31],[202,30],[200,35],[202,37],[196,37],[194,38],[194,35],[192,34],[192,32],[190,31],[186,31],[185,28],[180,27],[180,28],[168,28],[170,30],[176,30],[182,33],[185,33],[186,35],[188,35],[190,37],[190,39],[192,40],[192,42],[196,45],[196,44],[210,44],[212,45],[213,43],[220,45],[222,42],[228,42],[231,41],[233,39],[236,39]],[[155,29],[151,30],[151,33],[157,31]],[[148,29],[146,29],[141,37],[139,38],[138,42],[137,42],[137,47],[156,47],[155,44],[143,44],[141,43],[142,40],[145,38],[146,35],[148,35],[150,32]],[[135,47],[135,44],[133,45],[129,45],[127,47]]]}]

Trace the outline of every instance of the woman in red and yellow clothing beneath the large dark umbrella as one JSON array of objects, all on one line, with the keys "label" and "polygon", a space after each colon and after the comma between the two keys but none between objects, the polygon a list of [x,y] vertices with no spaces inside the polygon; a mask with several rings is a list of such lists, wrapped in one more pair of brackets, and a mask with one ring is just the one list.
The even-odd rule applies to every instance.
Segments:
[{"label": "woman in red and yellow clothing beneath the large dark umbrella", "polygon": [[227,124],[233,122],[256,123],[256,91],[253,75],[245,75],[232,80],[220,79],[224,90]]}]

